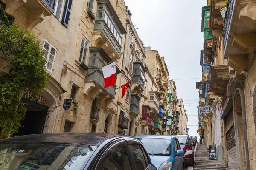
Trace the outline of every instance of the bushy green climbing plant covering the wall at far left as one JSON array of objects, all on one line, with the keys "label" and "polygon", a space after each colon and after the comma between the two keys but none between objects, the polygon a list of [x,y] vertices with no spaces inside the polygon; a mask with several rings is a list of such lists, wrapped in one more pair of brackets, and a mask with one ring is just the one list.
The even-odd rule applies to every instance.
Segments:
[{"label": "bushy green climbing plant covering the wall at far left", "polygon": [[0,139],[12,136],[21,126],[26,114],[23,93],[36,96],[44,90],[49,75],[43,54],[33,33],[17,24],[0,24],[0,55],[14,65],[9,74],[0,74]]}]

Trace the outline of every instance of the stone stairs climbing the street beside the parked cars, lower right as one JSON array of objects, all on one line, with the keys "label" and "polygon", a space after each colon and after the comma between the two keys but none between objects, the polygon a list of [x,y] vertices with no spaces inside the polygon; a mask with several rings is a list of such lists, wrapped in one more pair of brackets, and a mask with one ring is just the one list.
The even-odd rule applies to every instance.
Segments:
[{"label": "stone stairs climbing the street beside the parked cars, lower right", "polygon": [[209,160],[209,150],[198,142],[193,170],[227,170],[227,168],[219,161]]}]

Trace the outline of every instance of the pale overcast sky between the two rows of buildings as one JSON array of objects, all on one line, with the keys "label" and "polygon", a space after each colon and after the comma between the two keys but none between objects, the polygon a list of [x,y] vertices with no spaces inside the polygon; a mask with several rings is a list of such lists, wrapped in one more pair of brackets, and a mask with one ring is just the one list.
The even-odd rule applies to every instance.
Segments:
[{"label": "pale overcast sky between the two rows of buildings", "polygon": [[177,97],[183,99],[188,114],[189,136],[196,135],[199,94],[195,85],[201,79],[191,78],[202,77],[201,8],[207,0],[125,0],[125,4],[144,46],[165,57],[169,79],[175,80]]}]

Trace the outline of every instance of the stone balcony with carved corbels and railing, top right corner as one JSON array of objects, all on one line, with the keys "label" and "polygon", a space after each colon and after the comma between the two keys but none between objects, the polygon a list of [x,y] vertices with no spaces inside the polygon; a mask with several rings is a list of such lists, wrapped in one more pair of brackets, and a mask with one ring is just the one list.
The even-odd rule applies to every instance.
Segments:
[{"label": "stone balcony with carved corbels and railing, top right corner", "polygon": [[255,1],[229,0],[224,27],[224,58],[237,74],[253,59],[256,47]]}]

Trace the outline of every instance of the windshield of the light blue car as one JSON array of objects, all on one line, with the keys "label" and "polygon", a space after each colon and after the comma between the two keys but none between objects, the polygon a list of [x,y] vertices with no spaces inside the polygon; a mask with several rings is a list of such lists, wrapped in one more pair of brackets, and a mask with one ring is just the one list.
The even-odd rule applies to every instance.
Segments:
[{"label": "windshield of the light blue car", "polygon": [[171,155],[171,139],[140,138],[149,155]]}]

